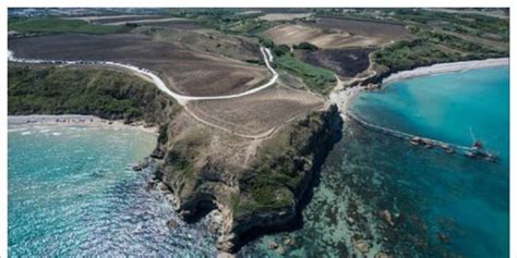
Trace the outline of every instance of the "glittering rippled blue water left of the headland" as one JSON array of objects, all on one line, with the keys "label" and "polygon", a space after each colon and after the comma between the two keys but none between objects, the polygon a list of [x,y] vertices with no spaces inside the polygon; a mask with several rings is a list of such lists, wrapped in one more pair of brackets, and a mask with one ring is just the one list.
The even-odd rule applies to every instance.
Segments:
[{"label": "glittering rippled blue water left of the headland", "polygon": [[151,168],[130,168],[155,143],[136,130],[10,127],[9,255],[214,256],[203,222],[184,224],[144,189]]}]

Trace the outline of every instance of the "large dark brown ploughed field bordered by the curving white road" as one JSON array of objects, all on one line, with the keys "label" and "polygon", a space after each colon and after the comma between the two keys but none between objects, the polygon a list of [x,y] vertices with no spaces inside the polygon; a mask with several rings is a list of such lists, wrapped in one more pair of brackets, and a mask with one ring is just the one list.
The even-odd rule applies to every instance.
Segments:
[{"label": "large dark brown ploughed field bordered by the curving white road", "polygon": [[242,93],[268,76],[260,65],[137,34],[29,37],[10,40],[9,48],[21,58],[131,63],[156,71],[175,90],[191,96]]}]

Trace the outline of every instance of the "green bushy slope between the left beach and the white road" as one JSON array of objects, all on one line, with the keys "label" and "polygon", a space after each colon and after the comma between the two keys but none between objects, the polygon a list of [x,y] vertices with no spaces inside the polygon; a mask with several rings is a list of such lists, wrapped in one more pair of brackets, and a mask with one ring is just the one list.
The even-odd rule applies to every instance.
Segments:
[{"label": "green bushy slope between the left beach and the white road", "polygon": [[179,107],[151,83],[119,71],[10,64],[8,74],[9,114],[94,114],[158,123],[165,109]]}]

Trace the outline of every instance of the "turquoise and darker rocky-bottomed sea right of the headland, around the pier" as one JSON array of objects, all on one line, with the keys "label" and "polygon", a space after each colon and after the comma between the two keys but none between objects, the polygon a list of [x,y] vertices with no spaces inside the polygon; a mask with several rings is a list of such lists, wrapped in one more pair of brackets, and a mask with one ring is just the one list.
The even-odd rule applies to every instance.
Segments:
[{"label": "turquoise and darker rocky-bottomed sea right of the headland, around the pier", "polygon": [[[374,124],[500,153],[491,163],[411,146],[349,121],[321,172],[299,231],[265,236],[242,256],[507,257],[508,67],[412,78],[365,93],[351,111]],[[354,212],[357,210],[357,212]],[[390,225],[383,211],[389,211]],[[350,220],[350,218],[352,220]],[[284,244],[286,238],[294,245]]]}]

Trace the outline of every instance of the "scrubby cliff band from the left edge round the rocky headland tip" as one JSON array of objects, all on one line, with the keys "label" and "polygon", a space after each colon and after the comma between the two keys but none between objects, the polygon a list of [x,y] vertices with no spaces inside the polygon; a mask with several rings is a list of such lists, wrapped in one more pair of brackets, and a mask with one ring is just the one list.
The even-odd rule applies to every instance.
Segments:
[{"label": "scrubby cliff band from the left edge round the rocky headland tip", "polygon": [[8,91],[9,114],[95,114],[160,125],[152,155],[158,177],[187,221],[220,211],[218,248],[230,253],[243,236],[297,219],[341,135],[339,112],[330,106],[286,122],[266,138],[236,136],[196,121],[149,83],[105,67],[10,63]]}]

